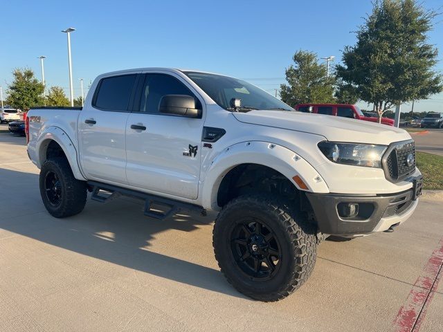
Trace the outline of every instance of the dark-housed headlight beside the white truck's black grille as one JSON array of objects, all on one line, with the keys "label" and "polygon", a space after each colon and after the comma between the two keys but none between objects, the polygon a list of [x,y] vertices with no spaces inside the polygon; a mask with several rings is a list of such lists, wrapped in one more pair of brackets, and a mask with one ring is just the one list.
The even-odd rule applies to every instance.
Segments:
[{"label": "dark-housed headlight beside the white truck's black grille", "polygon": [[381,167],[381,156],[387,148],[386,145],[373,144],[318,143],[318,149],[334,163],[365,167]]}]

